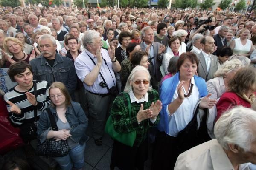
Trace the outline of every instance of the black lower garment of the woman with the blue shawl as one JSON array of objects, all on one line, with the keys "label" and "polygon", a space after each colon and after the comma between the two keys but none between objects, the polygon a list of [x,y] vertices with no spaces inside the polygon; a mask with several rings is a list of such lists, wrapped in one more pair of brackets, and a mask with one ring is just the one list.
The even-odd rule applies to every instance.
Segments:
[{"label": "black lower garment of the woman with the blue shawl", "polygon": [[178,158],[177,138],[157,132],[151,170],[173,170]]}]

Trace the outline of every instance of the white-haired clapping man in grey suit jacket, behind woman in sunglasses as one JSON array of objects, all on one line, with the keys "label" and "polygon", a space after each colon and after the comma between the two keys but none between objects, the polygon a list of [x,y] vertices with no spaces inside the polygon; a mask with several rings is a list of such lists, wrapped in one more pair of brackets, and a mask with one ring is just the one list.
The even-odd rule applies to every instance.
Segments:
[{"label": "white-haired clapping man in grey suit jacket, behind woman in sunglasses", "polygon": [[154,31],[151,27],[143,28],[141,33],[143,41],[140,43],[140,48],[148,54],[148,60],[150,62],[148,69],[152,76],[151,85],[154,89],[158,90],[162,78],[160,66],[162,65],[165,47],[159,42],[154,42]]}]

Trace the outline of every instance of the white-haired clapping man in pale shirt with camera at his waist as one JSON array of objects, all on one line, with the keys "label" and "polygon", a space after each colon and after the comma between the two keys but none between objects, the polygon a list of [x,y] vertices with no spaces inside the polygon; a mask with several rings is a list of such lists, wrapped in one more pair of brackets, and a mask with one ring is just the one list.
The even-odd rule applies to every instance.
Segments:
[{"label": "white-haired clapping man in pale shirt with camera at his waist", "polygon": [[97,146],[102,145],[105,120],[116,96],[116,78],[121,66],[115,57],[115,48],[102,49],[99,32],[89,30],[82,42],[85,50],[75,60],[76,74],[84,83],[88,102],[88,116]]}]

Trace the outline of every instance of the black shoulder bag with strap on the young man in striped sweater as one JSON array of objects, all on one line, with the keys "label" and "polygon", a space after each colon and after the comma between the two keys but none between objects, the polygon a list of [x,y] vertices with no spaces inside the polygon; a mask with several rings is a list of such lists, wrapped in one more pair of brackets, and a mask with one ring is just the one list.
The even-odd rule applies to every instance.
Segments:
[{"label": "black shoulder bag with strap on the young man in striped sweater", "polygon": [[[33,86],[34,86],[34,96],[36,99],[37,98],[36,81],[33,81]],[[37,139],[37,132],[36,132],[37,125],[38,125],[37,107],[34,106],[33,122],[25,122],[20,125],[20,137],[23,139],[25,143],[30,142],[34,139]]]}]

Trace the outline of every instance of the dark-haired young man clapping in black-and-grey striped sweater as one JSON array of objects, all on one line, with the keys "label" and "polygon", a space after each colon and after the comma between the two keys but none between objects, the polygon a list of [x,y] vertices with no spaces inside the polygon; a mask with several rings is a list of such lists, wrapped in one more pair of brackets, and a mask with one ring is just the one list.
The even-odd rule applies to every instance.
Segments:
[{"label": "dark-haired young man clapping in black-and-grey striped sweater", "polygon": [[[49,83],[46,81],[34,81],[31,65],[26,62],[15,62],[8,70],[9,77],[18,85],[11,88],[5,95],[7,109],[11,122],[20,127],[21,137],[24,142],[31,140],[33,134],[36,137],[36,122],[42,111],[50,104]],[[36,83],[34,85],[34,83]],[[36,96],[35,89],[36,87]],[[35,125],[35,133],[30,134],[30,128]],[[28,139],[29,138],[29,139]]]}]

